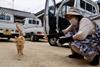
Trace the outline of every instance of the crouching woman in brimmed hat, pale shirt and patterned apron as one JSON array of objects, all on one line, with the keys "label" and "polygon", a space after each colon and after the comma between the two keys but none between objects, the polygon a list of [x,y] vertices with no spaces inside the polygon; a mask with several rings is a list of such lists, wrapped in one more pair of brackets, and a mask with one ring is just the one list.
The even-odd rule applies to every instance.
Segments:
[{"label": "crouching woman in brimmed hat, pale shirt and patterned apron", "polygon": [[58,35],[70,32],[71,36],[58,39],[57,44],[71,42],[72,54],[68,56],[69,58],[84,59],[85,57],[90,65],[99,65],[100,29],[98,26],[88,18],[84,18],[75,8],[70,8],[65,17],[71,25]]}]

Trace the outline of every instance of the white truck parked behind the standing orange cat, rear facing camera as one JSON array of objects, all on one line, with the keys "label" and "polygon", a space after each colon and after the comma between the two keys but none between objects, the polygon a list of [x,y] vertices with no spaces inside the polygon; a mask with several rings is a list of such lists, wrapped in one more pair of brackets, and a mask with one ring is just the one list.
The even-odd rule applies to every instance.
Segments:
[{"label": "white truck parked behind the standing orange cat, rear facing camera", "polygon": [[26,38],[38,41],[44,37],[44,30],[40,19],[25,18],[22,22]]}]

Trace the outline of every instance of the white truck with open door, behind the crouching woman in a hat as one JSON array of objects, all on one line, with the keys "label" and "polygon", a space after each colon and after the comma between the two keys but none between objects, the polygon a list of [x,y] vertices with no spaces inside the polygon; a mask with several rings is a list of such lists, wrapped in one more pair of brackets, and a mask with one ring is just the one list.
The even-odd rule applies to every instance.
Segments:
[{"label": "white truck with open door, behind the crouching woman in a hat", "polygon": [[51,46],[57,46],[56,41],[59,37],[56,33],[70,25],[65,19],[65,14],[71,7],[79,9],[84,17],[99,14],[98,5],[91,0],[62,0],[60,3],[57,3],[57,0],[46,0],[44,29]]}]

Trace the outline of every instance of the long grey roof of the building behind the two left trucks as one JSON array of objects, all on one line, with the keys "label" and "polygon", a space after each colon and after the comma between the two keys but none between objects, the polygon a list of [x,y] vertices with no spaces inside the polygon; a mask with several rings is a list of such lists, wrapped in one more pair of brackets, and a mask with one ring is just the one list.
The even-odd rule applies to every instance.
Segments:
[{"label": "long grey roof of the building behind the two left trucks", "polygon": [[19,10],[14,10],[14,9],[10,9],[10,8],[3,8],[0,7],[0,12],[5,14],[5,13],[9,13],[12,14],[14,16],[14,21],[18,22],[23,20],[24,18],[37,18],[33,13],[30,12],[25,12],[25,11],[19,11]]}]

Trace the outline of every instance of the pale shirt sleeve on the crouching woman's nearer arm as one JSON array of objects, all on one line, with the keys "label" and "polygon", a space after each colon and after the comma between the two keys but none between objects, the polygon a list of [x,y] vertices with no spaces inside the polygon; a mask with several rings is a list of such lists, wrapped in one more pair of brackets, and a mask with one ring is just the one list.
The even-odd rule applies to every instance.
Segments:
[{"label": "pale shirt sleeve on the crouching woman's nearer arm", "polygon": [[88,18],[82,18],[80,21],[79,30],[73,36],[73,38],[83,40],[92,32],[93,29],[93,22],[91,22]]}]

